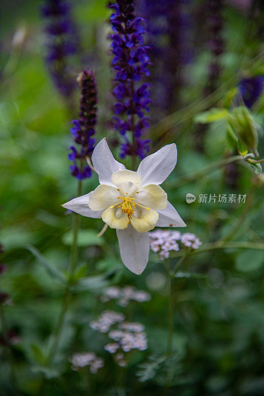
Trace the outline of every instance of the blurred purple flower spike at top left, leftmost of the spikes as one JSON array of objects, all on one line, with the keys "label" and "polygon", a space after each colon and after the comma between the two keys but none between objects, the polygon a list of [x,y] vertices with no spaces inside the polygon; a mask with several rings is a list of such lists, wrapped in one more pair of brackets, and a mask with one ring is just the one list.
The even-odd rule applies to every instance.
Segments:
[{"label": "blurred purple flower spike at top left, leftmost of the spikes", "polygon": [[59,93],[70,97],[76,82],[69,71],[68,58],[78,49],[78,35],[71,15],[71,7],[64,0],[46,0],[41,7],[46,20],[46,61]]}]

